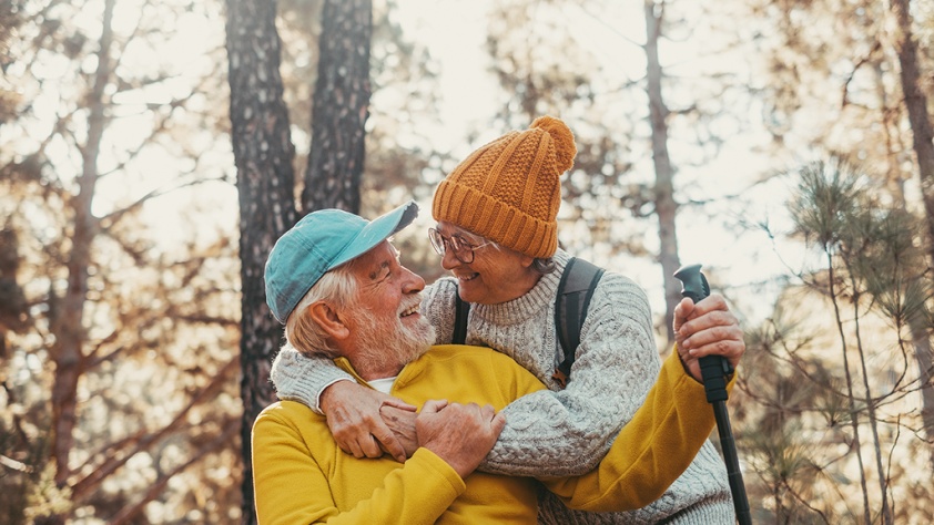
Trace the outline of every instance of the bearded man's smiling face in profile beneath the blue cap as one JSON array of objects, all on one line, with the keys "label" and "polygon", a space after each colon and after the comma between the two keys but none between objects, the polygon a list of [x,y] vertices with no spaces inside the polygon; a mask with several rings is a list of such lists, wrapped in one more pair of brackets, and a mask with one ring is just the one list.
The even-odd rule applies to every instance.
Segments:
[{"label": "bearded man's smiling face in profile beneath the blue cap", "polygon": [[395,375],[435,342],[434,328],[419,313],[425,280],[399,264],[398,251],[388,241],[353,265],[357,295],[347,319],[356,347],[352,361],[358,372],[369,369]]}]

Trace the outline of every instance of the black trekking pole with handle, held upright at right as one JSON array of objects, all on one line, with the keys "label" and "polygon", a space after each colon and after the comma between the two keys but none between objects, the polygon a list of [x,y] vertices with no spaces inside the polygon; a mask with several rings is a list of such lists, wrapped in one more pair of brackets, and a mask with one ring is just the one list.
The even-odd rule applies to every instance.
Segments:
[{"label": "black trekking pole with handle, held upright at right", "polygon": [[[681,281],[681,296],[690,297],[696,305],[710,295],[710,285],[700,268],[701,265],[682,266],[674,272],[674,278]],[[713,405],[713,418],[717,421],[717,432],[720,434],[720,449],[723,451],[723,462],[727,464],[727,478],[730,482],[730,492],[733,494],[737,522],[740,525],[752,525],[749,500],[745,496],[745,486],[737,455],[737,442],[733,440],[730,414],[727,412],[729,397],[727,377],[733,372],[733,368],[723,356],[704,356],[699,361],[707,402]]]}]

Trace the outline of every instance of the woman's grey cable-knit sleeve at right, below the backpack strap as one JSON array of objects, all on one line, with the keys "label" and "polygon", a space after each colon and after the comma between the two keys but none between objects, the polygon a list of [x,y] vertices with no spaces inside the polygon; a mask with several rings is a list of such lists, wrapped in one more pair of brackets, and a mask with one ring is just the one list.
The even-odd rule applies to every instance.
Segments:
[{"label": "woman's grey cable-knit sleeve at right, below the backpack strap", "polygon": [[527,476],[589,472],[642,404],[660,364],[644,291],[607,272],[581,327],[567,388],[509,404],[506,429],[480,470]]}]

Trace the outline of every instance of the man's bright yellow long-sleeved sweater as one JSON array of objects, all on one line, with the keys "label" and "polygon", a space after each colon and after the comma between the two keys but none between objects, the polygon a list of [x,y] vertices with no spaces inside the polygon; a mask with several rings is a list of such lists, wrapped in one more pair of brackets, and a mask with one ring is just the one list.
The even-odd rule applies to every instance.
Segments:
[{"label": "man's bright yellow long-sleeved sweater", "polygon": [[[337,363],[353,373],[346,360]],[[392,393],[416,406],[446,399],[500,410],[544,388],[507,356],[445,344],[405,367]],[[324,416],[282,401],[253,425],[256,512],[262,525],[532,524],[539,482],[571,508],[638,508],[661,496],[688,467],[713,424],[703,385],[684,373],[677,352],[598,469],[579,477],[535,481],[475,472],[461,480],[426,449],[405,463],[387,456],[357,460],[336,445]]]}]

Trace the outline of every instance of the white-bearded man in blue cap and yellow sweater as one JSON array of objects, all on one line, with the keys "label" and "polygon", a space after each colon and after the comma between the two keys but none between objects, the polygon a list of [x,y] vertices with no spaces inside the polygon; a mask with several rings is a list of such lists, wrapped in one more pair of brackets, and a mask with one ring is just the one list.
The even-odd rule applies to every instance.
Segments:
[{"label": "white-bearded man in blue cap and yellow sweater", "polygon": [[253,429],[260,522],[535,523],[539,483],[569,507],[599,512],[662,494],[713,428],[703,387],[678,354],[593,472],[538,481],[475,472],[506,424],[497,411],[544,385],[490,349],[430,347],[434,330],[419,315],[425,282],[387,240],[416,214],[412,203],[372,223],[316,212],[273,248],[267,302],[288,343],[422,410],[418,450],[398,463],[343,453],[324,416],[302,403],[268,406]]}]

